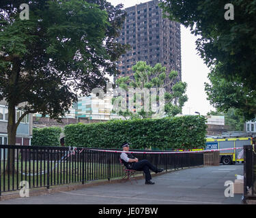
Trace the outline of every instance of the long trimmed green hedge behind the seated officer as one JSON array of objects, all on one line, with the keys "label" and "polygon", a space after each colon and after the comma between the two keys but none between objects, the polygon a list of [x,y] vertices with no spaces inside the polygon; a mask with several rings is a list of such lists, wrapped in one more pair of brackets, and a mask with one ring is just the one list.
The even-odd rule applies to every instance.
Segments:
[{"label": "long trimmed green hedge behind the seated officer", "polygon": [[127,141],[132,149],[192,149],[205,146],[206,127],[203,116],[180,116],[72,124],[64,133],[66,146],[116,149]]}]

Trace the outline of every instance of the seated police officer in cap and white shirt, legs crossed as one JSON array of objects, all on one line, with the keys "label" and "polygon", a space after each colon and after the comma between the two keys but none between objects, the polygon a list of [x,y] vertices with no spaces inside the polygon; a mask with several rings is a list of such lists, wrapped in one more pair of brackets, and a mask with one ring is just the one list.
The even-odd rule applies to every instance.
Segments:
[{"label": "seated police officer in cap and white shirt, legs crossed", "polygon": [[143,172],[145,173],[145,184],[153,185],[154,182],[151,181],[150,170],[158,173],[162,172],[163,169],[156,168],[156,166],[152,165],[152,163],[150,163],[146,159],[139,161],[139,159],[133,157],[131,153],[125,153],[129,151],[129,144],[127,142],[122,144],[122,149],[124,152],[121,153],[120,158],[122,159],[122,163],[124,163],[124,166],[126,166],[128,170],[143,170]]}]

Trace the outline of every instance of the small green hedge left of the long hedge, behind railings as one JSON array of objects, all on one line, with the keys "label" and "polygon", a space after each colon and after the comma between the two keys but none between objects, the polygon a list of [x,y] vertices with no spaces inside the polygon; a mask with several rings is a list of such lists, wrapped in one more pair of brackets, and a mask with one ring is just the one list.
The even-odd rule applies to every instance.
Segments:
[{"label": "small green hedge left of the long hedge, behind railings", "polygon": [[31,145],[34,146],[60,146],[59,136],[61,127],[33,128]]}]

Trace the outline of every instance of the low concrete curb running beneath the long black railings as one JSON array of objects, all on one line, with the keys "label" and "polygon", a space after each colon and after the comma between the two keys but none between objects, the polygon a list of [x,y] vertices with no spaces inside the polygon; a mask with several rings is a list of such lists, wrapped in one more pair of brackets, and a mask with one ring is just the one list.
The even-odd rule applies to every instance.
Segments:
[{"label": "low concrete curb running beneath the long black railings", "polygon": [[[203,167],[203,165],[201,166],[193,166],[193,167],[187,167],[187,168],[178,168],[175,170],[164,170],[163,172],[160,172],[158,174],[152,174],[152,177],[155,176],[160,176],[162,174],[167,174],[169,172],[176,172],[179,170],[186,170],[188,168],[200,168]],[[138,174],[135,175],[135,178],[137,179],[142,179],[144,178],[144,176],[142,174]],[[51,187],[49,189],[47,189],[46,187],[42,187],[42,188],[35,188],[35,189],[29,189],[29,197],[32,196],[42,196],[42,195],[48,195],[48,194],[53,194],[53,193],[57,193],[57,192],[61,192],[61,191],[74,191],[77,189],[83,189],[86,187],[92,187],[92,186],[96,186],[96,185],[105,185],[105,184],[110,184],[110,183],[122,183],[124,181],[122,181],[121,178],[113,178],[110,181],[90,181],[89,183],[85,183],[85,184],[71,184],[71,185],[59,185],[57,187]],[[21,198],[20,194],[19,194],[19,190],[18,191],[11,191],[11,192],[5,192],[2,193],[2,195],[0,196],[0,201],[3,200],[10,200],[13,198]]]}]

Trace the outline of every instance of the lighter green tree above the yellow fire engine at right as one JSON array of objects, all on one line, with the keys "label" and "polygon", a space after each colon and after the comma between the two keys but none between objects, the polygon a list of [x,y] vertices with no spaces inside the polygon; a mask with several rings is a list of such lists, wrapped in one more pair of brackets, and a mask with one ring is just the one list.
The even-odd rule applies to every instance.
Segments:
[{"label": "lighter green tree above the yellow fire engine at right", "polygon": [[256,91],[248,89],[240,82],[229,82],[220,78],[218,65],[212,69],[208,78],[210,84],[205,83],[205,92],[210,104],[218,111],[228,112],[229,108],[236,108],[236,114],[244,117],[244,120],[255,118]]}]

